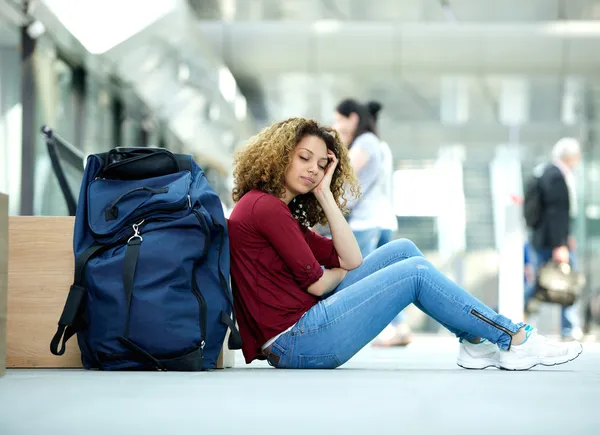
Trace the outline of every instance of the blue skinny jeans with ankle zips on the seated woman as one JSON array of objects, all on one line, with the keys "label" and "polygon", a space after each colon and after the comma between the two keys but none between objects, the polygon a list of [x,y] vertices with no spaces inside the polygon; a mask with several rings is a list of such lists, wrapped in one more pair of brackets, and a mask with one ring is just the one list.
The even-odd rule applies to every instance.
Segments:
[{"label": "blue skinny jeans with ankle zips on the seated woman", "polygon": [[484,305],[438,271],[409,240],[377,249],[272,345],[278,368],[336,368],[414,303],[457,337],[509,349],[523,326]]}]

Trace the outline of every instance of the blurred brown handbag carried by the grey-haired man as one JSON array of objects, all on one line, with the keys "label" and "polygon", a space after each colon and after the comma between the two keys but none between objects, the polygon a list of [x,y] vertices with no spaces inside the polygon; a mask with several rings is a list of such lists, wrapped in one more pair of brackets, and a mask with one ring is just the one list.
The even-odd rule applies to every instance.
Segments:
[{"label": "blurred brown handbag carried by the grey-haired man", "polygon": [[573,270],[568,263],[549,261],[538,273],[535,298],[553,304],[570,306],[575,303],[585,286],[585,276]]}]

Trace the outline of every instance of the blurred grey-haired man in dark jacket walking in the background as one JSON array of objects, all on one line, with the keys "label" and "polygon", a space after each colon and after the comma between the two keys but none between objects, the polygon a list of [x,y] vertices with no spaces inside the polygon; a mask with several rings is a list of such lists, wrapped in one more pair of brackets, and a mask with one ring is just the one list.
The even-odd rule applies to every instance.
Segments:
[{"label": "blurred grey-haired man in dark jacket walking in the background", "polygon": [[[576,243],[572,231],[578,210],[573,171],[580,161],[579,142],[563,138],[552,149],[552,163],[535,170],[541,174],[538,189],[542,206],[539,222],[531,234],[536,273],[551,260],[575,267]],[[564,340],[581,339],[577,304],[562,308],[561,335]]]}]

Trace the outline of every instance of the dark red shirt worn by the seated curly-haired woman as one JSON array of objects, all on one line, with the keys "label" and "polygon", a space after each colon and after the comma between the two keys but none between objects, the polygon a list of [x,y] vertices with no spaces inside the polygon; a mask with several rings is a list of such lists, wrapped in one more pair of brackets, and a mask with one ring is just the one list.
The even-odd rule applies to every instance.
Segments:
[{"label": "dark red shirt worn by the seated curly-haired woman", "polygon": [[279,198],[252,190],[228,223],[234,305],[247,363],[261,346],[296,323],[319,298],[306,289],[323,269],[340,267],[333,241],[292,217]]}]

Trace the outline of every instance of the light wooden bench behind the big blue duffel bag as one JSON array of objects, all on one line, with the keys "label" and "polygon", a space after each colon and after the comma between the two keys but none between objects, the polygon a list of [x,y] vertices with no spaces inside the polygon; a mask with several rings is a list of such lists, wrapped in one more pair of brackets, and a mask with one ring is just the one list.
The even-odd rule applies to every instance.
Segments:
[{"label": "light wooden bench behind the big blue duffel bag", "polygon": [[[9,368],[81,367],[75,338],[63,356],[50,353],[50,340],[73,281],[73,224],[73,217],[8,219]],[[217,368],[233,367],[234,357],[225,344]]]}]

